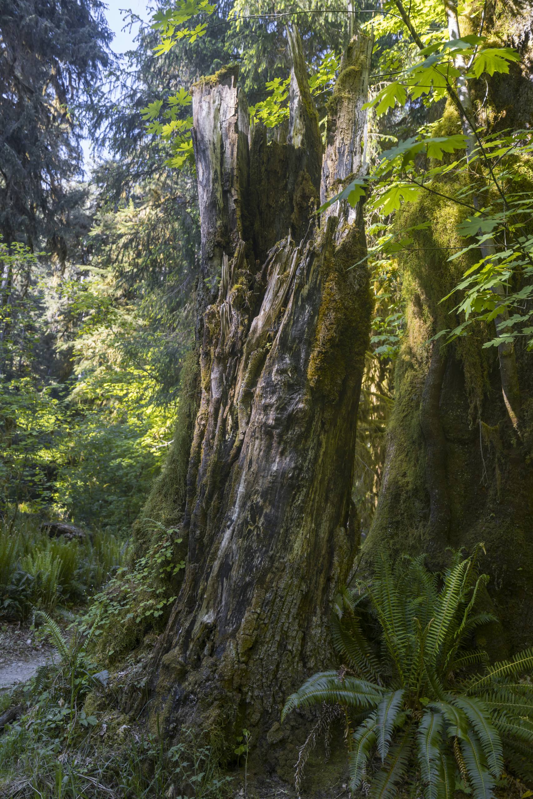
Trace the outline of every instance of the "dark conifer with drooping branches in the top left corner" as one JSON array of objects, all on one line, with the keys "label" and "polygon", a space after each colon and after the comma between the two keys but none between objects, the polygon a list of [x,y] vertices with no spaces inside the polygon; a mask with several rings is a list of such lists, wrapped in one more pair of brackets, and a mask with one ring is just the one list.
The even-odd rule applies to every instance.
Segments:
[{"label": "dark conifer with drooping branches in the top left corner", "polygon": [[109,66],[100,0],[0,2],[0,234],[65,255],[84,125]]}]

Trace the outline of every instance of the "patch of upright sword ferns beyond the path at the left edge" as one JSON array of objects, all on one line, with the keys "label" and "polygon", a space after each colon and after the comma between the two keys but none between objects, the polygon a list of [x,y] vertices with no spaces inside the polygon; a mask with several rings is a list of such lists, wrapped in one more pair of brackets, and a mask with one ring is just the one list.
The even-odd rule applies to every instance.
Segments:
[{"label": "patch of upright sword ferns beyond the path at the left edge", "polygon": [[120,566],[127,545],[96,532],[85,540],[50,539],[33,517],[0,526],[0,618],[25,621],[87,598]]}]

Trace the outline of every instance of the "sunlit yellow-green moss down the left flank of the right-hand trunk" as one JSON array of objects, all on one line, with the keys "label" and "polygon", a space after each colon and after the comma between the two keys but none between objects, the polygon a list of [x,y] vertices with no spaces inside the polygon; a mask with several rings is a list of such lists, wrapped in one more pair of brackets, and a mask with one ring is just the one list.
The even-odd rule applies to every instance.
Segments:
[{"label": "sunlit yellow-green moss down the left flank of the right-hand trunk", "polygon": [[[444,117],[443,129],[456,132],[458,122],[454,113]],[[443,133],[444,130],[438,135]],[[440,191],[453,194],[467,179],[467,176],[443,178]],[[451,296],[444,302],[442,298],[459,283],[463,272],[476,259],[474,252],[467,252],[448,260],[455,248],[464,247],[464,240],[455,230],[467,213],[467,209],[427,192],[421,193],[416,202],[404,205],[396,215],[399,237],[425,221],[431,225],[409,232],[412,243],[398,254],[407,329],[396,361],[395,407],[388,425],[394,451],[389,453],[387,491],[380,496],[379,511],[365,544],[368,551],[382,546],[385,540],[404,551],[415,552],[423,546],[428,495],[420,401],[428,373],[429,340],[441,330],[455,328],[459,321],[453,311],[457,298]],[[487,389],[487,355],[479,346],[480,336],[486,336],[481,329],[475,331],[475,336],[446,345],[463,365],[471,424],[478,417]],[[454,421],[451,419],[450,423]],[[459,473],[459,464],[455,471]]]}]

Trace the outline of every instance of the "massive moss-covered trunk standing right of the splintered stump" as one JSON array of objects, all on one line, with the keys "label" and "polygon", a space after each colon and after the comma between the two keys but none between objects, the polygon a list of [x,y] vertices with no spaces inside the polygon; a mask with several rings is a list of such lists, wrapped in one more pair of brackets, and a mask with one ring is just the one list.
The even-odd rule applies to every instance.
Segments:
[{"label": "massive moss-covered trunk standing right of the splintered stump", "polygon": [[[527,36],[516,34],[519,15],[488,23],[503,42],[527,45]],[[530,24],[527,14],[523,23]],[[527,51],[524,61],[531,67]],[[484,81],[477,89],[485,102]],[[492,79],[488,97],[495,124],[531,125],[531,80],[519,68]],[[447,109],[441,129],[460,130],[454,109]],[[515,169],[518,190],[531,192],[531,166],[517,159]],[[443,178],[442,192],[453,194],[472,179]],[[485,254],[447,260],[449,248],[464,246],[455,234],[463,215],[459,206],[427,194],[397,222],[403,229],[428,220],[431,228],[414,233],[410,252],[400,256],[407,334],[396,364],[384,479],[365,547],[368,553],[384,546],[426,551],[440,564],[447,546],[471,549],[484,542],[489,592],[503,620],[501,630],[487,631],[497,638],[487,644],[498,654],[533,641],[533,356],[520,340],[514,351],[509,345],[504,352],[483,349],[495,335],[483,326],[446,346],[443,339],[428,344],[436,332],[459,324],[449,316],[455,302],[440,300]]]}]

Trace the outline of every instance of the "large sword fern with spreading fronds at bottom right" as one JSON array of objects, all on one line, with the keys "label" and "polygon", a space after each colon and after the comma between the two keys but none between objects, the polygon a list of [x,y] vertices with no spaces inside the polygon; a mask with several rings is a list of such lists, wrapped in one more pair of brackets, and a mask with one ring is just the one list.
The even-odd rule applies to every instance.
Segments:
[{"label": "large sword fern with spreading fronds at bottom right", "polygon": [[[393,567],[382,555],[359,594],[340,594],[334,642],[346,665],[304,682],[282,718],[340,706],[352,792],[365,782],[372,799],[388,799],[408,784],[422,785],[424,799],[452,799],[462,781],[474,799],[491,799],[504,764],[533,779],[533,650],[489,666],[475,646],[475,631],[495,622],[478,607],[488,582],[481,549],[455,553],[442,578],[423,558]],[[379,648],[365,624],[377,626]]]}]

